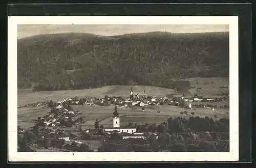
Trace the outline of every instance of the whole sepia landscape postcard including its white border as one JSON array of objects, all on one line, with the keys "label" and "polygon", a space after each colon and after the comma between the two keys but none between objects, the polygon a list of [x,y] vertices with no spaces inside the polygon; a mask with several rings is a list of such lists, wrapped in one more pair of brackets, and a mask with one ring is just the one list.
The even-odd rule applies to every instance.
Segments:
[{"label": "whole sepia landscape postcard including its white border", "polygon": [[8,35],[13,160],[238,159],[237,17],[48,18],[14,18]]}]

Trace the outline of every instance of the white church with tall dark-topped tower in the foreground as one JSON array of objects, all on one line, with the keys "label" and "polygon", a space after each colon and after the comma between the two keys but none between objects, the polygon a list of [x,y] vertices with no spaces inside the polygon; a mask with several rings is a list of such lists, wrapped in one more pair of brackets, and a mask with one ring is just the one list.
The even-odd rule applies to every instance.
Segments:
[{"label": "white church with tall dark-topped tower in the foreground", "polygon": [[126,132],[126,133],[134,133],[136,132],[136,128],[125,128],[125,127],[120,127],[120,116],[117,112],[117,106],[115,106],[115,111],[113,113],[113,127],[111,128],[105,128],[106,132],[112,132],[112,131],[119,131],[119,132]]}]

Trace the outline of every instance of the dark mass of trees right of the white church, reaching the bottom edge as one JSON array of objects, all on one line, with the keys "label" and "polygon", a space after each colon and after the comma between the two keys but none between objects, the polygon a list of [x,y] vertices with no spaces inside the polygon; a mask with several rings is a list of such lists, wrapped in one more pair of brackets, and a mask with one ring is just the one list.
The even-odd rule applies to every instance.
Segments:
[{"label": "dark mass of trees right of the white church, reaching the bottom edge", "polygon": [[159,125],[129,123],[125,126],[145,132],[145,139],[122,139],[114,132],[99,152],[229,152],[229,119],[170,117]]}]

